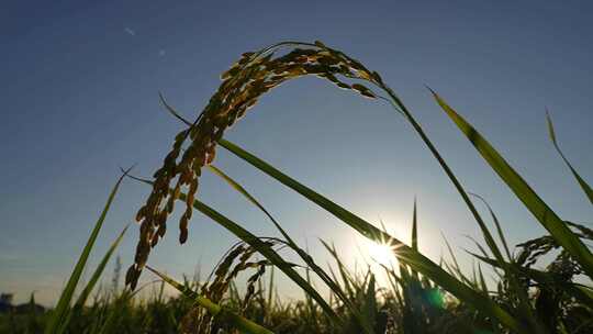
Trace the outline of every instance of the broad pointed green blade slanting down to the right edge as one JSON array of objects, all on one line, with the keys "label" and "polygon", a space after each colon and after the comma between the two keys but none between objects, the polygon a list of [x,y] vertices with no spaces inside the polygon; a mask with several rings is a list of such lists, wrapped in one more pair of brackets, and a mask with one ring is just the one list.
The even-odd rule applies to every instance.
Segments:
[{"label": "broad pointed green blade slanting down to the right edge", "polygon": [[586,246],[471,124],[450,108],[435,91],[430,91],[440,108],[468,137],[492,169],[513,190],[541,225],[548,230],[552,237],[582,265],[586,275],[593,278],[593,255]]}]

